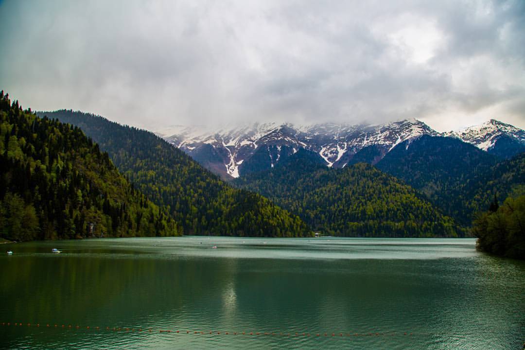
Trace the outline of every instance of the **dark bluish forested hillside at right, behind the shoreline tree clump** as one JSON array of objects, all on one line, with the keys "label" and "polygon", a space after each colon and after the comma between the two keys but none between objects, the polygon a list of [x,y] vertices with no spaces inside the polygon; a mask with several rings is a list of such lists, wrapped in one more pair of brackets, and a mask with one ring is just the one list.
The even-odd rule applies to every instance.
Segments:
[{"label": "dark bluish forested hillside at right, behind the shoreline tree clump", "polygon": [[422,192],[446,215],[469,226],[496,194],[506,198],[525,183],[525,156],[500,161],[450,137],[421,136],[401,143],[377,163],[382,171]]}]

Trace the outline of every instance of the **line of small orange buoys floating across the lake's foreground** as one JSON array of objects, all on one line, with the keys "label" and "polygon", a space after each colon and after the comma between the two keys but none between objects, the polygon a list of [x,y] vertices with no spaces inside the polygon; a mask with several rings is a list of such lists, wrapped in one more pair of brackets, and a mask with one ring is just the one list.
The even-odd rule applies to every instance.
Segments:
[{"label": "line of small orange buoys floating across the lake's foreground", "polygon": [[79,326],[71,324],[40,324],[40,323],[22,323],[22,322],[2,322],[2,326],[13,327],[40,327],[40,328],[64,328],[68,330],[92,330],[103,332],[148,332],[148,333],[174,333],[174,334],[193,334],[193,335],[251,335],[251,336],[315,336],[315,337],[356,337],[356,336],[411,336],[413,333],[398,332],[398,333],[275,333],[275,332],[217,332],[217,331],[173,331],[161,328],[130,328],[130,327],[91,327]]}]

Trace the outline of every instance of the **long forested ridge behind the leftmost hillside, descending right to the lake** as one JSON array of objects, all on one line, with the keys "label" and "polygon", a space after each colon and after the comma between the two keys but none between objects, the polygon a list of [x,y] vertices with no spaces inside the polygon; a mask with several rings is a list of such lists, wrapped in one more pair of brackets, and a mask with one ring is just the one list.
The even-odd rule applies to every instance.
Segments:
[{"label": "long forested ridge behind the leftmost hillside, descending right to the lake", "polygon": [[98,142],[117,168],[158,205],[168,208],[184,234],[299,237],[307,225],[268,199],[230,187],[152,132],[101,116],[42,112],[78,126]]}]

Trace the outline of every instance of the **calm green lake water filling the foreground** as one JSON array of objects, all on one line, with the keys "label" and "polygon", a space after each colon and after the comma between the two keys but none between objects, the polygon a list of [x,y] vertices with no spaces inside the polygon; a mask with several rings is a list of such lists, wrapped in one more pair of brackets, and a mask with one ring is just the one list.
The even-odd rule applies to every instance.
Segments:
[{"label": "calm green lake water filling the foreground", "polygon": [[479,253],[474,239],[129,238],[0,249],[2,348],[471,350],[525,341],[525,263]]}]

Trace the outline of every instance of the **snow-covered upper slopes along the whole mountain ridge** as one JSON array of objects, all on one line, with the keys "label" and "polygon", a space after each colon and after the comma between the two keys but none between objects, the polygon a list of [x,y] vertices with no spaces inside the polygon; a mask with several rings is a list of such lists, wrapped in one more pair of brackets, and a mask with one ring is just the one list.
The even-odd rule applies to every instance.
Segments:
[{"label": "snow-covered upper slopes along the whole mountain ridge", "polygon": [[[186,153],[201,150],[200,145],[208,144],[216,151],[213,155],[216,164],[213,168],[224,165],[221,175],[239,176],[239,165],[248,160],[261,146],[277,146],[277,153],[268,147],[265,152],[270,156],[270,167],[282,160],[281,146],[296,153],[306,149],[318,153],[329,167],[342,167],[349,159],[366,146],[376,145],[382,153],[390,152],[396,145],[412,140],[421,135],[454,136],[465,142],[475,144],[482,150],[488,150],[502,134],[511,135],[525,143],[525,132],[512,125],[491,120],[461,131],[438,133],[425,123],[416,119],[402,120],[387,124],[352,125],[352,124],[310,124],[293,125],[290,123],[255,123],[237,127],[212,126],[187,127],[176,125],[170,131],[176,131],[164,138],[180,147]],[[169,134],[166,130],[159,134]],[[275,150],[275,149],[274,149]],[[272,153],[273,152],[273,153]],[[275,155],[276,154],[276,155]],[[275,156],[274,156],[275,155]],[[212,157],[212,156],[210,156]],[[268,166],[268,165],[267,165]]]}]

